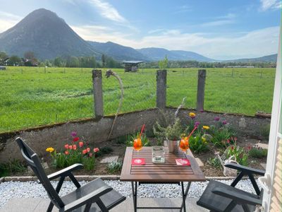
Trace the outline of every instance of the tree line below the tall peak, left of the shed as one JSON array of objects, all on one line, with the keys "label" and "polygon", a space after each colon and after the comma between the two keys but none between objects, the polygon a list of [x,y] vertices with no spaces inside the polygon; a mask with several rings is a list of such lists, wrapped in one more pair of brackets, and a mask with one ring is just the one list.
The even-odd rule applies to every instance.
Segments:
[{"label": "tree line below the tall peak, left of the shed", "polygon": [[122,68],[119,61],[102,54],[101,60],[93,57],[63,56],[55,59],[39,60],[34,52],[25,52],[23,57],[17,55],[8,56],[0,52],[0,65],[6,66],[56,66],[56,67],[82,67],[82,68]]}]

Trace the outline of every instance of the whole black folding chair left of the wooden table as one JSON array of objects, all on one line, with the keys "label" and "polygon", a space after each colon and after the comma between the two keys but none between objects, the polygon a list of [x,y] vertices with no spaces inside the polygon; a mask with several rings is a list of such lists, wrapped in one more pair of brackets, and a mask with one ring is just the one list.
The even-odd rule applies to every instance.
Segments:
[{"label": "whole black folding chair left of the wooden table", "polygon": [[[54,205],[59,208],[59,211],[109,211],[114,206],[120,204],[125,200],[125,196],[122,196],[112,187],[105,184],[102,179],[94,179],[92,182],[80,186],[79,182],[73,176],[73,171],[81,169],[82,164],[74,164],[66,167],[59,172],[55,172],[51,175],[46,175],[44,169],[40,163],[37,154],[27,146],[22,139],[17,138],[16,142],[20,146],[20,151],[27,161],[28,165],[32,168],[35,175],[38,177],[39,182],[46,190],[51,202],[47,211],[52,211]],[[73,184],[77,187],[75,191],[66,194],[65,196],[59,196],[59,192],[65,177],[70,177]],[[51,185],[50,180],[59,178],[59,182],[56,189]]]}]

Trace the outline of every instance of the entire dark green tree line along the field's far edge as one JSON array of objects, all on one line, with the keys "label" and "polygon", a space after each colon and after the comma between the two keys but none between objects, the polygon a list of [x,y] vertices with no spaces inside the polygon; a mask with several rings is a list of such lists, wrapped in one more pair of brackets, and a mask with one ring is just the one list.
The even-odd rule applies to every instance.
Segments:
[{"label": "entire dark green tree line along the field's far edge", "polygon": [[[256,68],[274,68],[275,62],[259,62],[259,61],[246,61],[246,62],[201,62],[201,61],[168,61],[166,67],[168,68],[223,68],[228,66],[255,66]],[[82,67],[82,68],[122,68],[123,65],[120,61],[114,60],[102,54],[100,60],[95,57],[74,57],[62,56],[55,59],[46,59],[44,61],[37,59],[34,52],[25,52],[23,58],[17,55],[8,56],[5,52],[0,52],[0,65],[7,66],[56,66],[56,67]],[[140,64],[142,69],[159,69],[159,62],[152,61]]]}]

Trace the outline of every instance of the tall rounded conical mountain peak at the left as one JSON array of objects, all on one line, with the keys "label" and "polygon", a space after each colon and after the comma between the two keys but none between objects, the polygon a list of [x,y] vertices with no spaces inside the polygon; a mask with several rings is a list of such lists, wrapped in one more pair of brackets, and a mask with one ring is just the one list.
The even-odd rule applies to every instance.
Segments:
[{"label": "tall rounded conical mountain peak at the left", "polygon": [[0,51],[21,57],[31,51],[39,59],[99,55],[62,18],[44,8],[33,11],[13,28],[1,33]]}]

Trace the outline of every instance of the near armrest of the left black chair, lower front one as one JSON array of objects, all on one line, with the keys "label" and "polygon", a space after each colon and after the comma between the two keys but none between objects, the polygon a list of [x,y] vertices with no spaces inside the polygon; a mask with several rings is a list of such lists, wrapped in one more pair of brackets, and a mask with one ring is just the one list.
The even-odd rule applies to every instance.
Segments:
[{"label": "near armrest of the left black chair, lower front one", "polygon": [[71,203],[67,204],[64,207],[64,211],[73,211],[75,208],[79,208],[87,203],[94,203],[95,199],[98,199],[100,196],[111,192],[113,190],[112,187],[109,187],[109,185],[104,185],[103,187],[100,187],[99,189],[96,189],[94,192],[91,192],[90,194],[87,194],[85,196],[82,196],[80,199],[77,199],[75,201],[72,201]]}]

